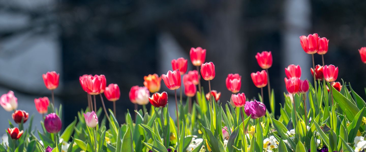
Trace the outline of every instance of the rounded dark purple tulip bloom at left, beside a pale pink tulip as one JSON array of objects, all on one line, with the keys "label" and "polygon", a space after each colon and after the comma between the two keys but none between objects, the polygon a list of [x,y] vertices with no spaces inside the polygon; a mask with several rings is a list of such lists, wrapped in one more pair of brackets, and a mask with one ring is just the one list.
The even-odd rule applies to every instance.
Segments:
[{"label": "rounded dark purple tulip bloom at left, beside a pale pink tulip", "polygon": [[47,132],[57,133],[61,130],[62,122],[56,113],[50,113],[45,118],[44,126]]}]

